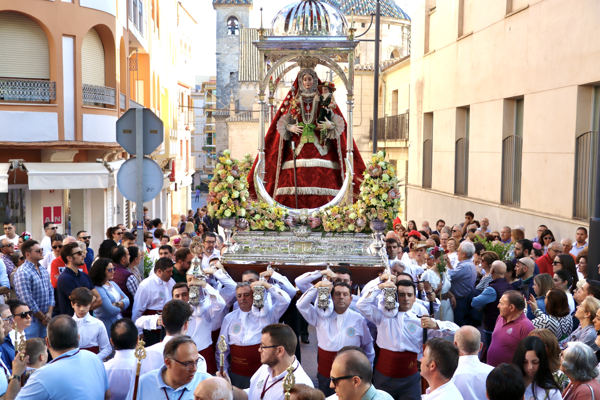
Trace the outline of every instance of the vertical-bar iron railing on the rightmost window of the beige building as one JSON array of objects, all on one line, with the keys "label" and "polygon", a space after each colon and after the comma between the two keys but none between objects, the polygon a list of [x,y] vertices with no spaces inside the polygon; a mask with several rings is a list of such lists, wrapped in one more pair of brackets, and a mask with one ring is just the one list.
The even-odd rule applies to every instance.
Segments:
[{"label": "vertical-bar iron railing on the rightmost window of the beige building", "polygon": [[575,179],[573,218],[589,219],[594,207],[598,132],[590,131],[575,139]]}]

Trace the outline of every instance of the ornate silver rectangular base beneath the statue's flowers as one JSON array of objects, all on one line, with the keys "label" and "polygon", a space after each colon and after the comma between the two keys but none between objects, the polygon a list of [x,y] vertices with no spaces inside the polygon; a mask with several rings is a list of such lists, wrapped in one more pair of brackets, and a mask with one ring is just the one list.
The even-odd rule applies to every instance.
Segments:
[{"label": "ornate silver rectangular base beneath the statue's flowers", "polygon": [[385,258],[373,246],[370,234],[320,233],[299,227],[292,232],[239,232],[235,245],[221,256],[224,263],[236,261],[278,263],[349,263],[384,266]]}]

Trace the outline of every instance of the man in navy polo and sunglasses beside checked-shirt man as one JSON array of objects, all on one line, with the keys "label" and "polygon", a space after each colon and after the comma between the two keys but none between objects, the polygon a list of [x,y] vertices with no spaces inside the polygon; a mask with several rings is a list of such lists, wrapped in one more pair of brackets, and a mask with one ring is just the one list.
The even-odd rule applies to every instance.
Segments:
[{"label": "man in navy polo and sunglasses beside checked-shirt man", "polygon": [[77,243],[68,243],[67,245],[62,246],[61,258],[62,261],[67,264],[67,267],[56,281],[59,313],[73,317],[75,311],[71,306],[69,296],[71,296],[71,293],[77,287],[86,287],[92,291],[94,299],[89,308],[90,311],[100,307],[102,305],[100,293],[98,293],[98,290],[96,290],[94,284],[92,284],[89,275],[79,270],[79,266],[85,264],[83,252],[79,248],[79,245],[77,245]]}]

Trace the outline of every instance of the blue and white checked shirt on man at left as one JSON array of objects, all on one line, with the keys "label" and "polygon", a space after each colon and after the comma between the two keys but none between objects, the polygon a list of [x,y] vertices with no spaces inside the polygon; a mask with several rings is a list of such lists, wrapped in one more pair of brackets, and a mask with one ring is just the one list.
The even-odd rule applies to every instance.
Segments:
[{"label": "blue and white checked shirt on man at left", "polygon": [[[50,284],[50,275],[44,267],[38,264],[38,270],[34,263],[25,260],[22,266],[17,268],[14,274],[14,290],[17,297],[27,303],[29,309],[46,314],[49,306],[54,306],[54,288]],[[31,317],[31,322],[38,322],[38,318]]]}]

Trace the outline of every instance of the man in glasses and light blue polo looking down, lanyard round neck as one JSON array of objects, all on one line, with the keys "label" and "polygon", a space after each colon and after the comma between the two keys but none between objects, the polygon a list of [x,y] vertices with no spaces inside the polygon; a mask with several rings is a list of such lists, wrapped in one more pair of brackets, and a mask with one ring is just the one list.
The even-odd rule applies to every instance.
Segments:
[{"label": "man in glasses and light blue polo looking down, lanyard round neck", "polygon": [[[160,355],[164,361],[161,360],[158,369],[140,374],[137,398],[194,400],[194,390],[198,384],[211,377],[200,368],[200,363],[204,362],[202,357],[199,358],[196,344],[190,336],[179,335],[166,344],[163,342],[163,345],[164,356],[162,352]],[[147,357],[143,360],[142,368],[147,360]],[[282,392],[281,387],[279,391]],[[132,398],[133,390],[130,390],[127,400]]]}]

